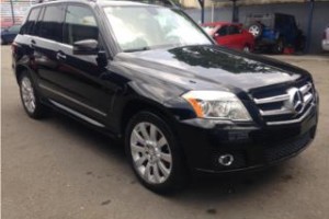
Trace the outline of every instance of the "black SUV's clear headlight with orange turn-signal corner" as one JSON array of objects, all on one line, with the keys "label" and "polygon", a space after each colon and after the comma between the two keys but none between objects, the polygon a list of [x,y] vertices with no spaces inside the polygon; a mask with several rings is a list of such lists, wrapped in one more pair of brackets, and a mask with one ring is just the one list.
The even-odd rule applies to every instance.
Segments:
[{"label": "black SUV's clear headlight with orange turn-signal corner", "polygon": [[226,91],[190,91],[182,95],[197,117],[230,120],[251,120],[241,101]]}]

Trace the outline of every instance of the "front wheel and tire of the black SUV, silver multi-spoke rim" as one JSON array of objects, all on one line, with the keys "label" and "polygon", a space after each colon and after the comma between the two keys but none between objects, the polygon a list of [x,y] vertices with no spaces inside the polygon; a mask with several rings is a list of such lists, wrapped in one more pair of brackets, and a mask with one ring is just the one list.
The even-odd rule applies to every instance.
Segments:
[{"label": "front wheel and tire of the black SUV, silver multi-spoke rim", "polygon": [[185,185],[186,169],[178,141],[160,116],[150,112],[133,116],[125,132],[125,149],[134,173],[148,189],[168,194]]}]

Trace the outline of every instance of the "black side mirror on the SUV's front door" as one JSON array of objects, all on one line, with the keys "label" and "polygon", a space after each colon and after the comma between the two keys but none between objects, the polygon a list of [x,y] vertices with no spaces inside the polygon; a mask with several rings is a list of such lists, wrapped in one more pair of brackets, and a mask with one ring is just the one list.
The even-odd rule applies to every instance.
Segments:
[{"label": "black side mirror on the SUV's front door", "polygon": [[99,42],[95,39],[83,39],[73,43],[73,55],[98,55]]}]

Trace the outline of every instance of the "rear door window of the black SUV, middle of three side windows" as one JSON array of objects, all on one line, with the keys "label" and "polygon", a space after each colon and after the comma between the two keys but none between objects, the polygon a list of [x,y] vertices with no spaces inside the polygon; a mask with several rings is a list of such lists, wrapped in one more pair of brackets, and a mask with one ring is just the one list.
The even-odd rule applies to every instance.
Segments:
[{"label": "rear door window of the black SUV, middle of three side windows", "polygon": [[44,16],[39,22],[38,35],[44,38],[63,42],[64,7],[46,7]]}]

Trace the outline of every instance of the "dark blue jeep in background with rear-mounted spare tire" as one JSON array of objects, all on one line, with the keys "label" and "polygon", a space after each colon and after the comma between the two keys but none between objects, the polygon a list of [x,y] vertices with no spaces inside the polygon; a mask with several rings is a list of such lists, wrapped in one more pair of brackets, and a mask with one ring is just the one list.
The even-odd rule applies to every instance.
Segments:
[{"label": "dark blue jeep in background with rear-mounted spare tire", "polygon": [[250,14],[246,26],[256,37],[256,49],[271,49],[282,54],[285,47],[304,50],[305,36],[297,27],[295,16],[283,13]]}]

